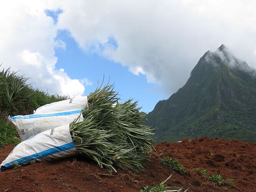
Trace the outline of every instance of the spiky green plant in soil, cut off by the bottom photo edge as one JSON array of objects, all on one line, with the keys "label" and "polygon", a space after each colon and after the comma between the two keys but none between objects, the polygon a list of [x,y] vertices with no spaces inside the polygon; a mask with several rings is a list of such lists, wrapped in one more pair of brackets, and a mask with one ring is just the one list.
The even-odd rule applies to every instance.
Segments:
[{"label": "spiky green plant in soil, cut off by the bottom photo edge", "polygon": [[[163,182],[161,182],[160,184],[156,184],[154,187],[149,187],[148,185],[146,187],[143,187],[143,189],[140,190],[140,192],[169,192],[169,191],[173,191],[173,192],[180,192],[183,190],[182,187],[165,187],[164,183],[170,179],[170,177],[173,174],[171,174],[166,180],[164,180]],[[188,190],[188,189],[187,189]],[[187,190],[185,190],[184,192],[186,192]]]}]

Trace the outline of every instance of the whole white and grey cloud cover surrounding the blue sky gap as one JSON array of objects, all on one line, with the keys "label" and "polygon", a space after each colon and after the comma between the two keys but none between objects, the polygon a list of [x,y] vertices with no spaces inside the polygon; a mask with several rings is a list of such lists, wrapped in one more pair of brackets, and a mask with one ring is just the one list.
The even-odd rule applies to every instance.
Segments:
[{"label": "whole white and grey cloud cover surrounding the blue sky gap", "polygon": [[[86,83],[55,70],[54,47],[65,50],[65,42],[54,38],[57,30],[68,30],[84,51],[128,66],[171,94],[185,84],[199,58],[221,44],[256,67],[255,7],[253,0],[7,3],[0,7],[1,63],[22,67],[42,88],[81,94]],[[46,9],[62,10],[56,24]]]}]

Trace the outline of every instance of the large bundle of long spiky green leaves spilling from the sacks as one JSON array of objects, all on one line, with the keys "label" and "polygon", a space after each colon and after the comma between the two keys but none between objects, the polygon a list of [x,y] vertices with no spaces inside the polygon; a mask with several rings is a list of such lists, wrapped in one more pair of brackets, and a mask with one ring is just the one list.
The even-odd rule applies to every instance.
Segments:
[{"label": "large bundle of long spiky green leaves spilling from the sacks", "polygon": [[113,85],[99,88],[88,96],[83,122],[70,124],[76,150],[110,172],[115,167],[135,172],[145,170],[145,159],[153,149],[155,129],[143,125],[146,118],[129,99],[119,103]]}]

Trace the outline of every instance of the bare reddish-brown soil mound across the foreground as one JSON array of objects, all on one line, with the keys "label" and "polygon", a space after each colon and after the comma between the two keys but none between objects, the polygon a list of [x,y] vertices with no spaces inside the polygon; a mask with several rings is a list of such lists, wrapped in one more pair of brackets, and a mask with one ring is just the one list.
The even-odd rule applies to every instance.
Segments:
[{"label": "bare reddish-brown soil mound across the foreground", "polygon": [[[13,146],[0,148],[0,161]],[[82,157],[55,162],[38,162],[0,172],[0,191],[139,191],[165,180],[173,171],[160,163],[163,157],[179,159],[186,174],[174,172],[165,186],[183,186],[188,191],[256,191],[256,143],[236,140],[195,138],[180,143],[163,142],[156,146],[146,172],[119,170],[110,174]],[[208,170],[203,176],[199,171]],[[220,186],[209,180],[219,174],[233,178],[234,184]]]}]

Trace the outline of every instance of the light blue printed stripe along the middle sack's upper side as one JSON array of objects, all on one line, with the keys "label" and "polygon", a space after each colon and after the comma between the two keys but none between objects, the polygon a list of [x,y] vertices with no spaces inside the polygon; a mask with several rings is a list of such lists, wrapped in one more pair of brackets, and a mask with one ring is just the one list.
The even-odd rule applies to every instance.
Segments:
[{"label": "light blue printed stripe along the middle sack's upper side", "polygon": [[46,118],[46,117],[55,117],[55,116],[65,116],[65,115],[71,115],[76,113],[81,113],[82,110],[75,110],[75,111],[66,111],[66,112],[60,112],[60,113],[50,113],[50,114],[33,114],[33,115],[18,115],[14,117],[8,117],[9,119],[12,119],[15,121],[16,119],[33,119],[33,118]]}]

